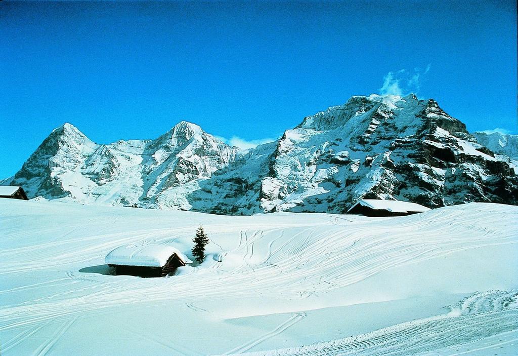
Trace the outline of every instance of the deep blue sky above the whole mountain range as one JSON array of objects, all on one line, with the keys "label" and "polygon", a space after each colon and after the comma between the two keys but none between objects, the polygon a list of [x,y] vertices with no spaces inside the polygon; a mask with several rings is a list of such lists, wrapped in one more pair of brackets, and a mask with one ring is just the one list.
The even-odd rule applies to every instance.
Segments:
[{"label": "deep blue sky above the whole mountain range", "polygon": [[515,6],[3,1],[0,177],[64,122],[110,143],[186,120],[246,145],[380,92],[516,133]]}]

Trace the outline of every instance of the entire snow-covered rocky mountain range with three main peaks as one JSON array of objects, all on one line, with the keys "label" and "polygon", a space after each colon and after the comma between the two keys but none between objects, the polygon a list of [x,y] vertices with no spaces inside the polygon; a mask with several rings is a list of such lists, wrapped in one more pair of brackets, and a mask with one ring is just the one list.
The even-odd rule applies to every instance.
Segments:
[{"label": "entire snow-covered rocky mountain range with three main peaks", "polygon": [[477,135],[413,94],[353,96],[246,152],[188,122],[110,145],[65,124],[3,184],[30,197],[225,214],[344,212],[362,197],[518,204],[516,141],[495,154]]}]

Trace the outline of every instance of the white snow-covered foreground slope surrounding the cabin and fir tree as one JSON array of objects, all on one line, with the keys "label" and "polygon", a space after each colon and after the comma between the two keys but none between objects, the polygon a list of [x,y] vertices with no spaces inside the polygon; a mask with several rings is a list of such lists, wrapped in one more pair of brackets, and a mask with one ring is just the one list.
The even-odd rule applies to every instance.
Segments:
[{"label": "white snow-covered foreground slope surrounding the cabin and fir tree", "polygon": [[[398,218],[0,200],[2,355],[518,352],[518,207]],[[175,276],[109,275],[123,244],[208,257]],[[477,351],[478,350],[478,351]]]}]

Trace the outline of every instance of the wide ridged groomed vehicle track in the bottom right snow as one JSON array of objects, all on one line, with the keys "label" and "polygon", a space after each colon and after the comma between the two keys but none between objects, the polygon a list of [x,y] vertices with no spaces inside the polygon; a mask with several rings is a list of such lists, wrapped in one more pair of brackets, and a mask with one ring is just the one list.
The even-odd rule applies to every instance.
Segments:
[{"label": "wide ridged groomed vehicle track in the bottom right snow", "polygon": [[[266,352],[251,352],[244,355],[402,356],[424,354],[432,350],[465,345],[499,334],[516,336],[518,335],[517,295],[518,291],[476,293],[463,302],[460,307],[462,309],[460,315],[455,315],[455,310],[453,310],[453,315],[414,320],[363,335],[329,341],[328,343]],[[502,301],[506,300],[513,300],[514,306],[505,306]],[[510,343],[512,340],[514,339],[503,341],[503,343]],[[496,345],[492,344],[484,348]]]}]

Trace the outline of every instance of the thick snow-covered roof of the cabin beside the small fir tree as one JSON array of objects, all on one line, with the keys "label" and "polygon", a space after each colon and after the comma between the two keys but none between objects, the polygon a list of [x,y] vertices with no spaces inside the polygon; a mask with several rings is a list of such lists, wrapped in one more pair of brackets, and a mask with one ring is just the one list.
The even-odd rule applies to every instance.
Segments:
[{"label": "thick snow-covered roof of the cabin beside the small fir tree", "polygon": [[192,263],[180,250],[167,245],[120,246],[106,255],[105,262],[123,266],[163,267],[175,253],[184,263]]}]

